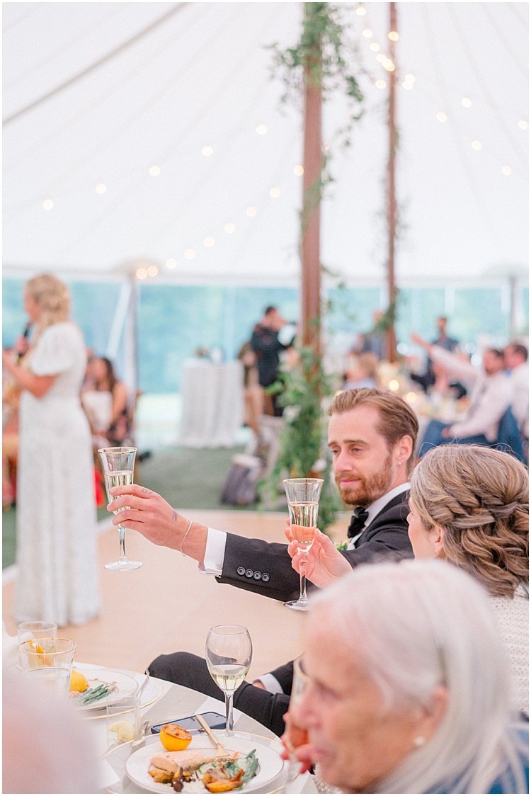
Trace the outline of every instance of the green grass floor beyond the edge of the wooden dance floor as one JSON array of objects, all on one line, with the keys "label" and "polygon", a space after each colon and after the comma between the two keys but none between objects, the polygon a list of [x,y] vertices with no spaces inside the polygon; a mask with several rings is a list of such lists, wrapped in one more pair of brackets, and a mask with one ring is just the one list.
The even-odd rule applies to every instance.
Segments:
[{"label": "green grass floor beyond the edge of the wooden dance floor", "polygon": [[[221,503],[221,490],[232,456],[244,447],[193,449],[180,446],[152,449],[150,458],[139,462],[138,480],[177,509],[228,509]],[[244,506],[244,509],[252,508]],[[2,515],[2,568],[14,564],[16,509]],[[107,517],[98,509],[98,519]]]}]

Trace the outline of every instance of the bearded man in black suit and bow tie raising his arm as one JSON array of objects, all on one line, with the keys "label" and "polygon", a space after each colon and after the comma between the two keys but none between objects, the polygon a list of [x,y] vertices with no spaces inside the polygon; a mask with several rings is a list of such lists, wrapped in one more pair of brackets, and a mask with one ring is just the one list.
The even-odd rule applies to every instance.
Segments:
[{"label": "bearded man in black suit and bow tie raising his arm", "polygon": [[[414,412],[392,392],[361,388],[335,396],[328,414],[335,482],[342,500],[356,507],[343,555],[352,567],[383,556],[411,557],[406,517],[408,474],[418,432]],[[299,575],[291,567],[287,545],[238,537],[186,521],[160,495],[139,485],[118,487],[113,494],[120,497],[109,510],[129,506],[119,517],[127,528],[197,560],[220,583],[280,600],[299,594]],[[322,563],[326,565],[326,561]],[[290,668],[287,665],[271,673],[279,691],[290,687]],[[221,698],[205,661],[197,656],[162,655],[150,665],[150,672]],[[244,683],[236,691],[234,704],[281,734],[288,701],[287,693],[271,693]]]}]

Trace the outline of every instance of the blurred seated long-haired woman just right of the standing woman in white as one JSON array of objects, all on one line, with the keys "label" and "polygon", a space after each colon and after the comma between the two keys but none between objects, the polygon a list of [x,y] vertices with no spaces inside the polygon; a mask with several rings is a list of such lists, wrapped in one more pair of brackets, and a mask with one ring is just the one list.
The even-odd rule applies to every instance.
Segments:
[{"label": "blurred seated long-haired woman just right of the standing woman in white", "polygon": [[107,357],[92,357],[88,373],[92,387],[81,393],[81,400],[92,435],[100,447],[123,445],[131,431],[127,387]]}]

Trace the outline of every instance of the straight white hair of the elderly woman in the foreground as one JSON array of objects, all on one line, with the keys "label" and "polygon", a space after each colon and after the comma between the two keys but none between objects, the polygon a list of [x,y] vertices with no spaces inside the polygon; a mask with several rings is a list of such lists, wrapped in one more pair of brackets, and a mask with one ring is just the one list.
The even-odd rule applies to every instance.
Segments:
[{"label": "straight white hair of the elderly woman in the foreground", "polygon": [[508,759],[518,779],[507,731],[510,665],[489,597],[470,575],[435,560],[370,564],[311,606],[317,621],[325,613],[342,633],[386,709],[429,709],[435,689],[447,689],[434,736],[378,783],[378,793],[486,793]]}]

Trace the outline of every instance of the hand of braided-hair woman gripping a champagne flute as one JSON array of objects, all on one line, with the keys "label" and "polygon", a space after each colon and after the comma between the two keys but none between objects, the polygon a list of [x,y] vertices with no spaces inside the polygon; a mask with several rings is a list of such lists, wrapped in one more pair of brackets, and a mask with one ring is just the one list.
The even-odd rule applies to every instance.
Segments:
[{"label": "hand of braided-hair woman gripping a champagne flute", "polygon": [[345,556],[338,551],[334,542],[321,533],[319,529],[315,531],[314,544],[307,553],[298,552],[298,543],[293,540],[291,535],[290,521],[286,521],[284,530],[289,542],[287,552],[291,556],[291,566],[299,575],[306,575],[314,586],[323,588],[334,583],[335,580],[352,571]]}]

